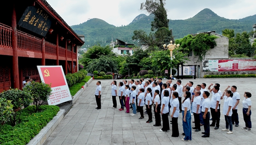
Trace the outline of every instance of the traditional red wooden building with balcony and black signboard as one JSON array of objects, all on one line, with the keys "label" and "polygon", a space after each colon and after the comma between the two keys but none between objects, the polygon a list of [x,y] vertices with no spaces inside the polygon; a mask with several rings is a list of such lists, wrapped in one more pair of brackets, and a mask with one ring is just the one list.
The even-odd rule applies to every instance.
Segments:
[{"label": "traditional red wooden building with balcony and black signboard", "polygon": [[84,41],[46,0],[3,0],[0,13],[0,92],[22,88],[25,76],[40,81],[37,65],[77,71]]}]

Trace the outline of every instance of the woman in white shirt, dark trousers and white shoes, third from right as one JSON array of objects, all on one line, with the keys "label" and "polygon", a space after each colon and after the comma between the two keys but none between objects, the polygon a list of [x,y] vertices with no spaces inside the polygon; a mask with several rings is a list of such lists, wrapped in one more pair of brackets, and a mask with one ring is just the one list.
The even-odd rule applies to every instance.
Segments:
[{"label": "woman in white shirt, dark trousers and white shoes, third from right", "polygon": [[233,125],[232,125],[232,96],[233,93],[230,90],[224,91],[222,97],[224,98],[224,104],[223,104],[223,114],[225,117],[226,122],[226,128],[222,129],[222,131],[227,131],[227,134],[233,133]]}]

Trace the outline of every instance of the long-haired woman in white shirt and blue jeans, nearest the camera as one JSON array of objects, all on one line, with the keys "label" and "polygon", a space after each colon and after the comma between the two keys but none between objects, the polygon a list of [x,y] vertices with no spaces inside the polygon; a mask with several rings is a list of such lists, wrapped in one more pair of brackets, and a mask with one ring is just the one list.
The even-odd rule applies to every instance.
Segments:
[{"label": "long-haired woman in white shirt and blue jeans, nearest the camera", "polygon": [[192,140],[192,127],[191,127],[191,114],[190,114],[190,102],[191,94],[189,91],[184,93],[185,99],[182,101],[182,125],[185,137],[183,141]]}]

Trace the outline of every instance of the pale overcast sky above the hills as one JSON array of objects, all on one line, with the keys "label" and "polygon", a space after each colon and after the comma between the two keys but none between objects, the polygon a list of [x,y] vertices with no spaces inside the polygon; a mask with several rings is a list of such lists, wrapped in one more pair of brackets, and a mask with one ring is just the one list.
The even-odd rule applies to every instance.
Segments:
[{"label": "pale overcast sky above the hills", "polygon": [[[146,0],[47,0],[68,25],[99,18],[111,25],[128,25],[141,13]],[[204,8],[226,19],[242,19],[256,14],[255,0],[166,0],[168,19],[188,19]]]}]

